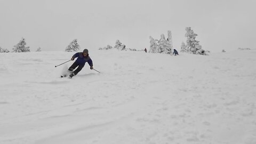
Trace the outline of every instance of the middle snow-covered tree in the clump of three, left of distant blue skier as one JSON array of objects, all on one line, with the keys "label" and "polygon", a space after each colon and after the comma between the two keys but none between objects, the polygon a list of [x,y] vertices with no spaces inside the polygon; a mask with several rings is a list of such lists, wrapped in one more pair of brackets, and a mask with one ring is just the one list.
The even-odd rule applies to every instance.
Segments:
[{"label": "middle snow-covered tree in the clump of three, left of distant blue skier", "polygon": [[165,39],[164,34],[161,35],[161,39],[158,41],[158,52],[159,53],[165,53],[165,54],[171,54],[171,45],[170,43]]}]

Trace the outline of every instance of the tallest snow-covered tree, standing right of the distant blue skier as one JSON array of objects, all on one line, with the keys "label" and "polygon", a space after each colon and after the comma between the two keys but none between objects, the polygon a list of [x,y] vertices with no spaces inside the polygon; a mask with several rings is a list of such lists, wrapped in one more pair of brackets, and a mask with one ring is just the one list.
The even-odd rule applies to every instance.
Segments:
[{"label": "tallest snow-covered tree, standing right of the distant blue skier", "polygon": [[196,54],[196,51],[202,49],[202,46],[199,44],[199,41],[196,41],[197,34],[191,29],[191,27],[186,27],[187,33],[185,36],[187,37],[187,47],[188,53]]}]

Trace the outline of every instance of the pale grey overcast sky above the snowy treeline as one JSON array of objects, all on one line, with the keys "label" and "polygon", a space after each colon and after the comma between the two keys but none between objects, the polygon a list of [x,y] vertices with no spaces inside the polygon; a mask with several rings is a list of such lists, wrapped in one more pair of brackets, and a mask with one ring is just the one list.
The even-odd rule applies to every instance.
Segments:
[{"label": "pale grey overcast sky above the snowy treeline", "polygon": [[203,49],[256,48],[254,0],[0,0],[0,46],[12,50],[21,37],[31,51],[65,50],[78,39],[82,49],[149,48],[149,36],[172,31],[174,49],[191,27]]}]

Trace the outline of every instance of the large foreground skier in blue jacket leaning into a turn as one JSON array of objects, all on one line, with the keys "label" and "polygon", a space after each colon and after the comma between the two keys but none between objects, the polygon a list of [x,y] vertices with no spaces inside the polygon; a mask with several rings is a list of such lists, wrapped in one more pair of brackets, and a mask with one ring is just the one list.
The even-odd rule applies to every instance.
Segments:
[{"label": "large foreground skier in blue jacket leaning into a turn", "polygon": [[[92,59],[89,57],[89,53],[87,49],[84,49],[83,52],[77,52],[73,55],[71,60],[74,60],[75,58],[76,61],[69,67],[70,75],[69,77],[72,78],[73,76],[77,75],[79,71],[81,71],[85,65],[86,62],[90,65],[90,69],[93,69],[93,63]],[[73,71],[76,67],[78,67],[75,71]]]}]

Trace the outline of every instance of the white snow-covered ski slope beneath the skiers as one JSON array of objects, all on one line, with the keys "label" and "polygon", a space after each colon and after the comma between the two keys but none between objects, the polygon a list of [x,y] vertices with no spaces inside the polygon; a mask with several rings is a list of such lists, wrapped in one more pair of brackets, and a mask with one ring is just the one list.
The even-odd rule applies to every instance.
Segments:
[{"label": "white snow-covered ski slope beneath the skiers", "polygon": [[256,50],[0,53],[0,143],[256,143]]}]

